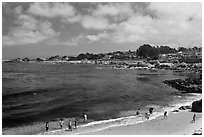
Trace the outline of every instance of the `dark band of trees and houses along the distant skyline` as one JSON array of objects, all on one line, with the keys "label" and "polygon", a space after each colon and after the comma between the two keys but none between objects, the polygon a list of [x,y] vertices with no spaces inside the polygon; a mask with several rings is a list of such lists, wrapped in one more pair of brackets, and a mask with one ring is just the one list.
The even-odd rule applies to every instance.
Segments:
[{"label": "dark band of trees and houses along the distant skyline", "polygon": [[[171,48],[169,46],[151,46],[149,44],[141,45],[135,51],[115,51],[109,53],[81,53],[77,56],[51,56],[46,59],[37,57],[34,59],[30,59],[28,57],[25,58],[16,58],[10,60],[10,62],[28,62],[28,61],[77,61],[77,60],[136,60],[136,59],[150,59],[156,60],[159,58],[161,54],[171,54],[177,52],[192,52],[192,51],[199,51],[201,52],[202,48],[193,47],[193,48],[184,48],[179,47],[178,49]],[[184,59],[184,58],[181,58]]]}]

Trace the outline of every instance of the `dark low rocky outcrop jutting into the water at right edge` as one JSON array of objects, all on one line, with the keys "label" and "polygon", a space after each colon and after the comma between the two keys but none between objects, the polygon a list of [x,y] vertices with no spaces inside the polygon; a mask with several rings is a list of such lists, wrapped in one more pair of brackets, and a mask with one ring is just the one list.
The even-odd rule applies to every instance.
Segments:
[{"label": "dark low rocky outcrop jutting into the water at right edge", "polygon": [[163,83],[187,93],[202,93],[202,79],[174,79],[165,80]]}]

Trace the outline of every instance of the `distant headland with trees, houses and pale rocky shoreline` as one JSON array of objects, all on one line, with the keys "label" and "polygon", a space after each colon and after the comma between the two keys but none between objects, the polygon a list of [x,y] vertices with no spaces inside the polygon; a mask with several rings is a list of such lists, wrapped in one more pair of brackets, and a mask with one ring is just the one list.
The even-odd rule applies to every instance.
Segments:
[{"label": "distant headland with trees, houses and pale rocky shoreline", "polygon": [[170,69],[174,71],[194,71],[202,73],[202,47],[178,49],[169,46],[143,44],[136,51],[116,51],[109,53],[81,53],[77,56],[51,56],[48,58],[15,58],[3,62],[41,62],[70,64],[99,64],[114,69]]}]

